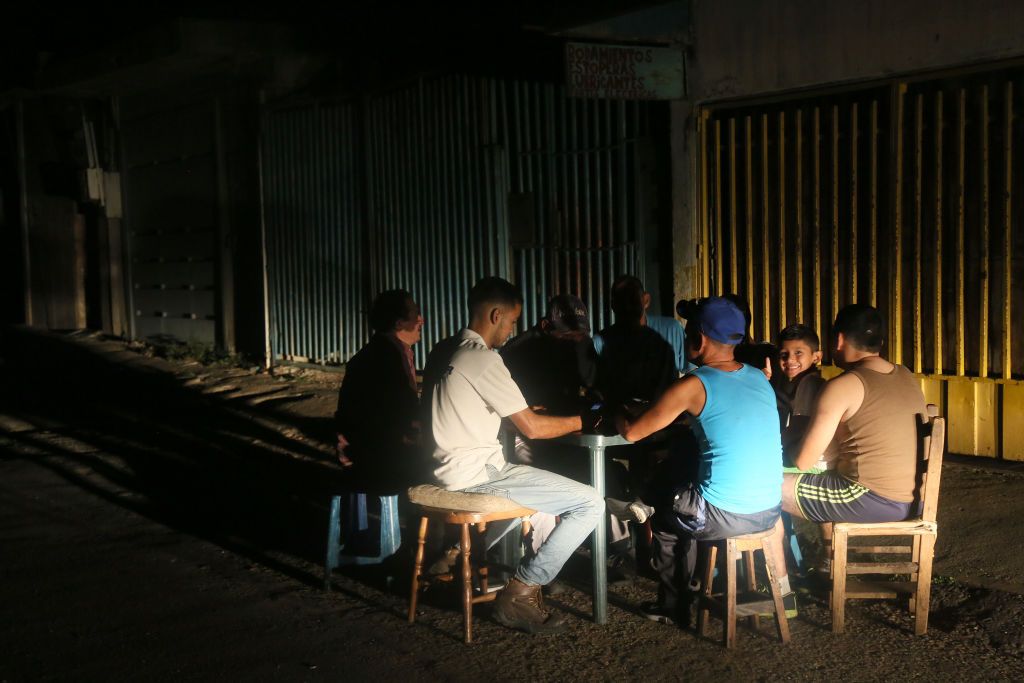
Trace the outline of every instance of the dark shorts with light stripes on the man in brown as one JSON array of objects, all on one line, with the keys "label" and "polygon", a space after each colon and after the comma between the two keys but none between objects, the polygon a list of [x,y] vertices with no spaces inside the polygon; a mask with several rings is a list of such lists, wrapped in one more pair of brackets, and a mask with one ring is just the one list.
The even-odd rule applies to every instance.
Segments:
[{"label": "dark shorts with light stripes on the man in brown", "polygon": [[906,519],[911,503],[879,496],[839,472],[798,474],[797,505],[804,517],[816,522],[892,522]]}]

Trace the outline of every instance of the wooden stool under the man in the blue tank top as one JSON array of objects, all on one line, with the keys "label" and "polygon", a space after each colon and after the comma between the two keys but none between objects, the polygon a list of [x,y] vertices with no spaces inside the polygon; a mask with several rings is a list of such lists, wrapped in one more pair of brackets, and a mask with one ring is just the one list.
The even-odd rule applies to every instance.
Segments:
[{"label": "wooden stool under the man in the blue tank top", "polygon": [[[778,586],[778,572],[775,567],[772,549],[775,544],[781,544],[784,538],[782,520],[767,531],[746,533],[721,542],[715,542],[708,549],[708,562],[703,570],[703,586],[697,603],[697,633],[707,636],[708,615],[715,609],[724,622],[724,643],[728,648],[736,644],[736,616],[750,618],[751,627],[759,626],[758,614],[765,611],[775,612],[775,626],[782,643],[790,642],[790,622],[785,617],[785,607],[782,605],[782,593]],[[715,562],[718,558],[718,543],[725,544],[725,595],[712,593],[712,582],[715,575]],[[765,557],[765,568],[768,572],[768,584],[771,587],[771,600],[765,600],[758,594],[757,582],[754,578],[754,551],[761,550]],[[742,556],[746,589],[743,601],[736,599],[736,561]],[[753,595],[751,595],[753,594]],[[725,598],[724,602],[722,598]]]}]

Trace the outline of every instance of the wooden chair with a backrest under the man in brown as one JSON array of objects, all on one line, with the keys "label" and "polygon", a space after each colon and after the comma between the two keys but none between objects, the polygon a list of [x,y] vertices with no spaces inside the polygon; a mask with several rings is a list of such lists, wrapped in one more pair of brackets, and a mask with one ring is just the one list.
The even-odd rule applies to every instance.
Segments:
[{"label": "wooden chair with a backrest under the man in brown", "polygon": [[[939,482],[942,476],[942,453],[945,445],[946,422],[937,417],[935,405],[928,407],[928,417],[921,416],[918,490],[921,516],[899,522],[857,524],[835,522],[825,524],[825,537],[831,527],[831,603],[833,633],[843,633],[846,601],[856,598],[896,598],[908,595],[914,614],[914,633],[928,631],[928,608],[932,589],[932,559],[938,524],[935,513],[939,506]],[[910,545],[861,546],[850,545],[852,537],[909,537]],[[848,561],[850,554],[909,555],[909,561]],[[860,558],[858,558],[860,559]],[[858,581],[851,574],[909,574],[908,582]]]}]

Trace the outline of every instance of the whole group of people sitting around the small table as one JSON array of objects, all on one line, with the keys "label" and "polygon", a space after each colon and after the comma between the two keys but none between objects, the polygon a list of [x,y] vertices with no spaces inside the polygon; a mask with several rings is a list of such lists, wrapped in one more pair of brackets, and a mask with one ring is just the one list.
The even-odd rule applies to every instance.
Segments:
[{"label": "whole group of people sitting around the small table", "polygon": [[[481,280],[469,325],[431,350],[418,395],[412,346],[423,316],[409,292],[384,292],[370,312],[375,334],[346,368],[336,424],[353,485],[433,482],[551,518],[499,595],[498,622],[528,633],[564,627],[544,608],[542,587],[603,523],[606,503],[581,481],[579,454],[548,441],[570,432],[636,442],[624,449],[629,471],[609,482],[607,507],[651,523],[658,595],[643,611],[663,623],[689,622],[697,541],[770,529],[783,510],[819,522],[911,514],[925,399],[909,371],[881,356],[878,310],[839,311],[831,356],[846,372],[825,382],[813,330],[786,327],[765,351],[751,343],[736,297],[681,301],[684,327],[647,313],[636,278],[618,278],[610,295],[614,324],[593,337],[583,302],[559,295],[509,341],[521,295],[502,279]],[[503,447],[503,429],[514,447]],[[788,577],[777,579],[792,596]]]}]

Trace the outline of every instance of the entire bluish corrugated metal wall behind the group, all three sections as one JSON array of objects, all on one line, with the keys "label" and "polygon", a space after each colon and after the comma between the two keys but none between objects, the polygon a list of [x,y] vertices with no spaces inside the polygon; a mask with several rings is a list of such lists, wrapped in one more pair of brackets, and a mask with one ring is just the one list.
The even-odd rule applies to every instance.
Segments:
[{"label": "entire bluish corrugated metal wall behind the group, all three sections", "polygon": [[466,324],[484,275],[520,286],[521,327],[566,292],[606,325],[613,278],[643,278],[635,146],[647,106],[451,76],[372,97],[358,117],[351,104],[268,112],[274,357],[346,361],[373,295],[401,287],[426,318],[422,365]]}]

